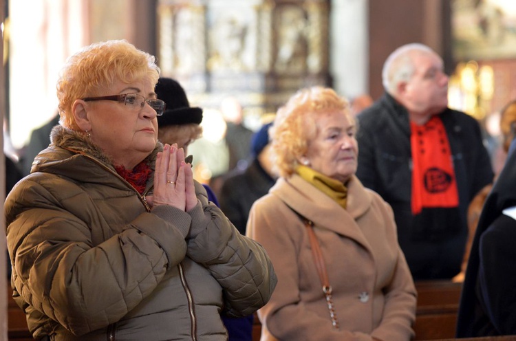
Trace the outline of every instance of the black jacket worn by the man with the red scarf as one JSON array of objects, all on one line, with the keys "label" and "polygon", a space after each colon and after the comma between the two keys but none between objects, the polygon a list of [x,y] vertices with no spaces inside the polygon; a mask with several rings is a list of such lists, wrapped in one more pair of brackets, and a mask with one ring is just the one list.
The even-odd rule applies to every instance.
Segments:
[{"label": "black jacket worn by the man with the red scarf", "polygon": [[393,208],[398,240],[414,280],[451,278],[460,272],[469,203],[493,181],[478,122],[452,109],[445,109],[440,118],[447,131],[458,185],[459,208],[453,219],[441,214],[440,209],[424,210],[424,217],[412,214],[410,125],[405,107],[385,94],[358,115],[356,175]]}]

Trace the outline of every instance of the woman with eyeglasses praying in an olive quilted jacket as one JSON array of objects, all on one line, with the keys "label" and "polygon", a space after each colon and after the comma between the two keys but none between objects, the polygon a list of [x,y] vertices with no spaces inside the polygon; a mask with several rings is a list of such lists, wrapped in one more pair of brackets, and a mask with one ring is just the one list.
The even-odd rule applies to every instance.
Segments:
[{"label": "woman with eyeglasses praying in an olive quilted jacket", "polygon": [[154,57],[126,41],[85,47],[57,84],[60,124],[5,204],[13,296],[38,340],[226,340],[276,284],[158,142]]}]

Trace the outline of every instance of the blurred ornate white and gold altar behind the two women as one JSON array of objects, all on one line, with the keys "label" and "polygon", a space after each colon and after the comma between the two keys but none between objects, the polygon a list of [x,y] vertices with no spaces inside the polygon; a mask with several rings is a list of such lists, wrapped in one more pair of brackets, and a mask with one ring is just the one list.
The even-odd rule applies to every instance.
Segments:
[{"label": "blurred ornate white and gold altar behind the two women", "polygon": [[159,0],[158,65],[191,102],[225,96],[261,113],[301,87],[331,85],[329,0]]}]

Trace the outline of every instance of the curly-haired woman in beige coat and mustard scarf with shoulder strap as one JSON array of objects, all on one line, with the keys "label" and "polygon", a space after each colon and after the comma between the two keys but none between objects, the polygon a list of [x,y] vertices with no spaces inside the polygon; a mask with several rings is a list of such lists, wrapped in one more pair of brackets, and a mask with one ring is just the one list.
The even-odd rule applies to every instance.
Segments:
[{"label": "curly-haired woman in beige coat and mustard scarf with shoulder strap", "polygon": [[[281,177],[247,225],[278,275],[258,313],[261,340],[413,336],[416,289],[390,206],[354,175],[355,132],[346,100],[332,89],[303,89],[277,113],[270,136]],[[317,245],[322,260],[312,254]]]}]

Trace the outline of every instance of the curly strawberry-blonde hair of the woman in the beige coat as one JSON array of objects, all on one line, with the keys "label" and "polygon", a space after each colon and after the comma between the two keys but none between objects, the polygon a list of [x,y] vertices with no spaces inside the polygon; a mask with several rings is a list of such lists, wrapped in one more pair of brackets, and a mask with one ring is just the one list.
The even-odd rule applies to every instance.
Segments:
[{"label": "curly strawberry-blonde hair of the woman in the beige coat", "polygon": [[317,118],[327,111],[343,111],[350,122],[355,121],[349,102],[327,87],[301,89],[278,109],[269,136],[272,163],[281,177],[290,177],[295,172],[299,159],[316,137]]}]

